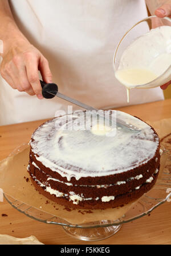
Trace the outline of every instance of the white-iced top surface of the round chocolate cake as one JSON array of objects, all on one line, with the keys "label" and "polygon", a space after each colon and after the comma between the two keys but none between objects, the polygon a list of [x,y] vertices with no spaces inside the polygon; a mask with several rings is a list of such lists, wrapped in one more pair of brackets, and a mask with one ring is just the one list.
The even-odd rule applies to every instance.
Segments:
[{"label": "white-iced top surface of the round chocolate cake", "polygon": [[[69,115],[56,117],[34,131],[30,145],[36,159],[58,171],[68,181],[72,177],[100,177],[122,173],[153,158],[159,138],[153,129],[139,118],[116,111],[117,118],[141,128],[140,132],[117,127],[116,134],[106,136],[95,130],[64,130],[62,123]],[[70,115],[68,124],[77,121]],[[79,126],[80,129],[80,126]],[[105,129],[108,131],[109,129]]]}]

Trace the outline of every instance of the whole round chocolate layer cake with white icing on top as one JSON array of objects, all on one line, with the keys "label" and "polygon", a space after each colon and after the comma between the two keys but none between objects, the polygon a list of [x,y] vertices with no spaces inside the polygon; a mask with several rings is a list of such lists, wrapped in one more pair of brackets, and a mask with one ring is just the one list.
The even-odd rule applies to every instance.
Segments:
[{"label": "whole round chocolate layer cake with white icing on top", "polygon": [[60,205],[84,209],[123,206],[149,191],[160,168],[158,135],[139,118],[116,114],[141,131],[117,125],[116,134],[107,136],[62,129],[78,119],[76,114],[39,126],[31,137],[27,168],[35,188]]}]

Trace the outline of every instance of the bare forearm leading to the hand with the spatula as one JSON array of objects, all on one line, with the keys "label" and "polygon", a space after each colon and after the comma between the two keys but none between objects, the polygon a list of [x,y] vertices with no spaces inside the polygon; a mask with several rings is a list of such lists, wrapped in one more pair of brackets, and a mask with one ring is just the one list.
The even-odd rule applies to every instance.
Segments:
[{"label": "bare forearm leading to the hand with the spatula", "polygon": [[3,55],[9,51],[11,44],[27,40],[18,29],[11,13],[8,0],[0,0],[0,39],[3,41]]}]

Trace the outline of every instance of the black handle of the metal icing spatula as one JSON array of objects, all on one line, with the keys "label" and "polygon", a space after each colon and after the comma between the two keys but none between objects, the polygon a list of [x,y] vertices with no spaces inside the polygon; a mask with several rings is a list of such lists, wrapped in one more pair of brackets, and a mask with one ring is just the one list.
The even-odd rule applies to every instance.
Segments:
[{"label": "black handle of the metal icing spatula", "polygon": [[[44,98],[52,99],[58,93],[58,85],[56,85],[56,83],[45,83],[44,81],[40,80],[40,84],[42,86],[42,95]],[[48,91],[55,95],[48,93]]]}]

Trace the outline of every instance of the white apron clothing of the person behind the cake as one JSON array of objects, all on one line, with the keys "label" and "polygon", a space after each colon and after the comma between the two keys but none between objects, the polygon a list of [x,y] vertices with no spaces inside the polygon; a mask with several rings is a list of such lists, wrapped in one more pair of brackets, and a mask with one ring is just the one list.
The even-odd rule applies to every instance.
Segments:
[{"label": "white apron clothing of the person behind the cake", "polygon": [[[10,5],[19,29],[48,59],[60,93],[99,109],[128,105],[112,59],[123,34],[147,16],[144,0],[10,0]],[[20,93],[5,81],[0,90],[0,125],[51,118],[70,105]],[[160,87],[132,89],[129,104],[161,99]]]}]

